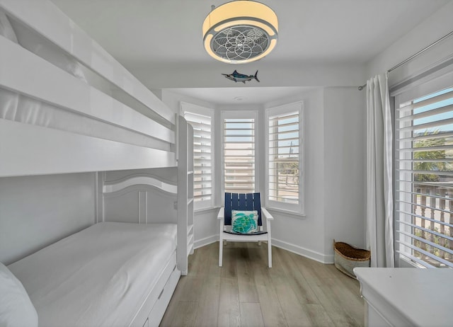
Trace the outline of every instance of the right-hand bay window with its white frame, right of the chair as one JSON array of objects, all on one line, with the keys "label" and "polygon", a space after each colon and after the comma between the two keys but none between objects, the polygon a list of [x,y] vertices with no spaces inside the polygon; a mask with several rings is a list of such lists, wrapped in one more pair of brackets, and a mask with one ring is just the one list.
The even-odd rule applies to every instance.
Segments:
[{"label": "right-hand bay window with its white frame, right of the chair", "polygon": [[268,207],[302,212],[302,103],[267,111]]}]

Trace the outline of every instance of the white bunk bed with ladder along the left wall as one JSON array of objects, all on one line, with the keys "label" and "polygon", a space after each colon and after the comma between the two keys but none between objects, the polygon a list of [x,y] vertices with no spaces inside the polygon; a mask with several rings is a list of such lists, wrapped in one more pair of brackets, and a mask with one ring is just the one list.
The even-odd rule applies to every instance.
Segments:
[{"label": "white bunk bed with ladder along the left wall", "polygon": [[[183,134],[180,142],[178,131]],[[96,176],[93,226],[8,266],[17,274],[25,291],[31,293],[38,319],[45,317],[42,322],[48,326],[159,325],[180,275],[188,272],[188,255],[193,253],[191,135],[191,127],[182,117],[176,118],[159,98],[51,1],[0,0],[0,180],[85,172],[94,172]],[[163,252],[165,259],[157,260],[160,264],[151,273],[141,264],[153,261],[149,258],[152,251],[147,249],[155,248],[156,243],[131,246],[130,251],[139,249],[144,254],[134,260],[134,271],[142,273],[137,273],[137,280],[127,281],[132,286],[122,283],[119,286],[140,289],[138,295],[130,295],[133,300],[124,297],[127,301],[104,305],[98,299],[99,310],[74,321],[74,316],[84,310],[83,305],[77,307],[77,302],[83,304],[87,292],[80,292],[79,299],[66,299],[71,302],[71,312],[52,313],[52,306],[40,300],[45,298],[42,292],[52,293],[50,287],[55,279],[48,278],[50,267],[57,264],[58,258],[87,253],[83,243],[88,241],[84,235],[93,236],[101,226],[112,229],[109,233],[117,233],[118,239],[125,234],[136,238],[131,229],[137,229],[141,239],[166,234],[170,245],[166,245],[168,252]],[[149,236],[161,230],[161,226],[166,226],[164,229],[169,232]],[[177,235],[171,226],[177,226]],[[63,246],[77,239],[79,245]],[[125,239],[122,241],[127,243]],[[105,247],[117,251],[114,243],[106,243]],[[159,243],[165,247],[166,241]],[[56,254],[59,248],[67,248],[69,252]],[[161,251],[154,252],[162,255]],[[105,260],[99,260],[100,256],[108,255],[100,253],[64,262],[65,265],[83,264],[93,271],[100,269],[98,281],[103,277],[109,280],[112,275],[102,270]],[[126,252],[122,254],[128,256]],[[52,258],[56,261],[52,262]],[[46,260],[46,265],[42,265],[42,260]],[[101,267],[91,266],[97,261]],[[2,269],[0,265],[0,278],[4,276]],[[79,290],[89,288],[87,285],[93,282],[103,284],[88,277],[89,269],[88,275],[78,275],[74,280],[73,285],[84,285]],[[132,276],[122,263],[113,269]],[[44,275],[34,275],[40,271]],[[149,278],[144,277],[147,274]],[[66,277],[72,278],[70,274]],[[136,282],[141,286],[137,287]],[[108,285],[105,292],[120,292],[112,288],[112,282],[105,284]],[[58,290],[62,294],[67,291]],[[98,291],[98,294],[104,292]],[[51,302],[58,303],[58,299],[52,298]],[[0,300],[0,322],[1,304]],[[61,310],[59,306],[55,308]],[[103,316],[94,315],[96,312]]]}]

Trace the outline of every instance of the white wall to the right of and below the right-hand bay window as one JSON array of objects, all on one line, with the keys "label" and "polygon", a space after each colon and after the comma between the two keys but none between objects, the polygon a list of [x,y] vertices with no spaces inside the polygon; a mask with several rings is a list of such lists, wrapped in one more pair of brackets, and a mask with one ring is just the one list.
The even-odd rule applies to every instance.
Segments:
[{"label": "white wall to the right of and below the right-hand bay window", "polygon": [[273,242],[275,246],[325,262],[324,249],[324,104],[323,89],[317,88],[293,98],[267,103],[267,108],[285,103],[304,103],[304,199],[305,216],[272,210]]}]

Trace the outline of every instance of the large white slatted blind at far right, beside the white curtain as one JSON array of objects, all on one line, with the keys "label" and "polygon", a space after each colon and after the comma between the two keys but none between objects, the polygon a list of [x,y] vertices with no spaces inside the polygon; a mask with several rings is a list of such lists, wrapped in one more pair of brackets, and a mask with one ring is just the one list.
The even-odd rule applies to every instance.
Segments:
[{"label": "large white slatted blind at far right, beside the white curtain", "polygon": [[396,107],[396,252],[453,267],[453,88]]}]

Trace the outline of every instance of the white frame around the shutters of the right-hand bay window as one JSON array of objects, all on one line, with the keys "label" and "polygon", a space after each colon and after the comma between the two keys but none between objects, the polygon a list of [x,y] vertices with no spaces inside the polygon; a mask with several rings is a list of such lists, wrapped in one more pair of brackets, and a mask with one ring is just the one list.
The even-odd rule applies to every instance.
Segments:
[{"label": "white frame around the shutters of the right-hand bay window", "polygon": [[[269,142],[270,142],[270,117],[275,115],[285,115],[288,113],[296,112],[299,114],[299,203],[287,203],[282,201],[270,200],[270,160],[269,160]],[[265,206],[279,210],[282,212],[289,212],[293,214],[302,214],[304,215],[305,210],[305,173],[304,173],[304,160],[305,160],[305,144],[304,144],[304,102],[297,101],[294,103],[287,103],[284,105],[279,105],[277,107],[268,108],[265,110]]]}]

